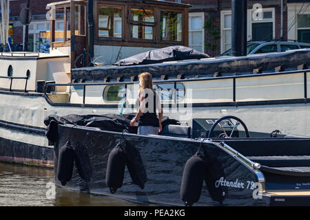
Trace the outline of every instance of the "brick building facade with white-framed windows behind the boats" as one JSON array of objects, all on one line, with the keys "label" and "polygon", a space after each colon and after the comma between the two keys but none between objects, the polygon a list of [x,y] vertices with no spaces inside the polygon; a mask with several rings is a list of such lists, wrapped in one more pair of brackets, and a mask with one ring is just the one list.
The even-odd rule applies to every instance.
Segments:
[{"label": "brick building facade with white-framed windows behind the boats", "polygon": [[[25,8],[27,0],[11,2],[11,23],[15,44],[23,43],[23,26],[19,12]],[[54,0],[55,1],[55,0]],[[30,44],[38,50],[36,41],[39,32],[49,30],[45,18],[45,6],[53,0],[31,0],[32,23],[30,24]],[[171,0],[173,1],[173,0]],[[189,3],[189,47],[210,56],[217,56],[231,47],[231,0],[176,0]],[[254,4],[262,5],[262,17],[256,21]],[[281,37],[281,0],[248,0],[247,40],[271,40]],[[282,39],[310,41],[310,1],[283,0]],[[56,26],[57,28],[57,26]],[[59,27],[61,30],[61,27]]]}]

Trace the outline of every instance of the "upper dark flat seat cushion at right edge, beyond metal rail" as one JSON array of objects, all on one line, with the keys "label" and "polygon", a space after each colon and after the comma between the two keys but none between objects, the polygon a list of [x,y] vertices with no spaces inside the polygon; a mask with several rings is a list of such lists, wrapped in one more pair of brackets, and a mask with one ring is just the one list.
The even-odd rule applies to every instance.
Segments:
[{"label": "upper dark flat seat cushion at right edge, beyond metal rail", "polygon": [[310,156],[260,156],[247,157],[252,162],[270,167],[310,166]]}]

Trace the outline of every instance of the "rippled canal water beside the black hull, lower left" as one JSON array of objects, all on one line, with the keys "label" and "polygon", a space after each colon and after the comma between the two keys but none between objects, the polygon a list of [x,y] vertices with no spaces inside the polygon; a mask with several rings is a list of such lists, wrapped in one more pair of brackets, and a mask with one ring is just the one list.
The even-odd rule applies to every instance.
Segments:
[{"label": "rippled canal water beside the black hull, lower left", "polygon": [[55,187],[52,169],[0,162],[0,206],[141,206],[141,203],[65,190]]}]

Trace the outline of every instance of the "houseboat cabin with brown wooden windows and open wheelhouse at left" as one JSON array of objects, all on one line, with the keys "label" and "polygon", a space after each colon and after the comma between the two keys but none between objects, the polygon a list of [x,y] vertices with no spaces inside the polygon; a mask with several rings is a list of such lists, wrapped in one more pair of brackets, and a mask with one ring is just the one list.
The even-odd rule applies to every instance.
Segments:
[{"label": "houseboat cabin with brown wooden windows and open wheelhouse at left", "polygon": [[[155,0],[94,0],[93,3],[92,12],[87,10],[87,1],[48,4],[51,30],[42,32],[41,36],[50,38],[51,50],[66,47],[70,51],[72,69],[83,67],[83,62],[76,58],[81,57],[84,49],[91,58],[101,56],[101,61],[109,65],[148,50],[188,45],[190,5]],[[63,20],[61,31],[59,28],[56,31],[57,19]],[[93,33],[88,33],[87,27],[92,25]],[[84,66],[91,58],[86,59]]]}]

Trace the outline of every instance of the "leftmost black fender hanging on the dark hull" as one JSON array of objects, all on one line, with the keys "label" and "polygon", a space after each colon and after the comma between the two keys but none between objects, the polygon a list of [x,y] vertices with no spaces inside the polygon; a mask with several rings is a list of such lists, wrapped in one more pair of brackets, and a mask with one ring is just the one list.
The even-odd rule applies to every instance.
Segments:
[{"label": "leftmost black fender hanging on the dark hull", "polygon": [[68,141],[59,151],[57,166],[57,177],[63,186],[65,186],[65,184],[72,178],[73,164],[74,150],[70,144],[70,141]]}]

